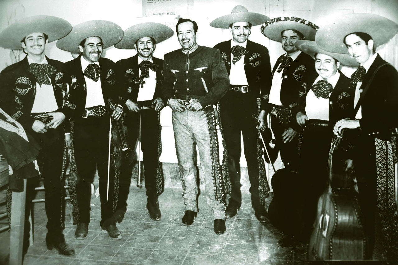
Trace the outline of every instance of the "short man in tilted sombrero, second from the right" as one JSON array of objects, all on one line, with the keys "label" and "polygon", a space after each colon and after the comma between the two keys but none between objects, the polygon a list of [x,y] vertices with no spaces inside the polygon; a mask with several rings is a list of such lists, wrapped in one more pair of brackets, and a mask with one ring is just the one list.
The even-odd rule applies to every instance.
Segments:
[{"label": "short man in tilted sombrero, second from the right", "polygon": [[[295,42],[295,47],[315,58],[318,76],[307,84],[306,94],[300,97],[300,111],[296,115],[297,123],[303,128],[298,171],[302,190],[297,194],[301,199],[293,203],[292,229],[289,231],[292,238],[285,240],[293,244],[308,240],[318,199],[327,188],[333,127],[336,121],[350,117],[354,111],[355,88],[339,68],[341,65],[358,66],[349,55],[324,51],[314,41],[299,40]],[[340,157],[333,156],[334,173],[343,173],[347,158],[342,157],[341,152],[338,154]],[[352,160],[346,163],[351,166]],[[304,229],[297,222],[301,216],[304,217]]]}]

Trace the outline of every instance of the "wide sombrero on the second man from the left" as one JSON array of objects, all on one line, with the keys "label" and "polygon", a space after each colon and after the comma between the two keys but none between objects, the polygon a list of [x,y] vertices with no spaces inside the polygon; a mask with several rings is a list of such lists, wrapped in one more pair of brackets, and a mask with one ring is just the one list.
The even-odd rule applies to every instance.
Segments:
[{"label": "wide sombrero on the second man from the left", "polygon": [[86,21],[73,26],[68,35],[57,41],[57,47],[64,51],[80,53],[80,42],[92,36],[100,37],[103,49],[105,49],[115,45],[123,38],[123,30],[117,24],[107,20]]}]

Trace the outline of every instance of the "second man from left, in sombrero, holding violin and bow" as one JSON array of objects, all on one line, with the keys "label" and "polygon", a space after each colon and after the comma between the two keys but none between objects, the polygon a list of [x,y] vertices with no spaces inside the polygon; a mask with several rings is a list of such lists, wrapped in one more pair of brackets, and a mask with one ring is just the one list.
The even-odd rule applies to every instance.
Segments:
[{"label": "second man from left, in sombrero, holding violin and bow", "polygon": [[[88,234],[90,200],[98,170],[103,232],[119,240],[121,233],[113,218],[114,169],[109,166],[109,123],[123,114],[121,95],[115,89],[115,63],[101,58],[103,49],[118,43],[122,29],[113,22],[92,20],[73,27],[71,33],[57,42],[57,47],[81,55],[66,62],[72,77],[71,97],[76,105],[74,121],[74,154],[80,176],[76,185],[79,208],[77,239]],[[110,172],[109,172],[110,171]],[[107,187],[108,186],[108,187]]]}]

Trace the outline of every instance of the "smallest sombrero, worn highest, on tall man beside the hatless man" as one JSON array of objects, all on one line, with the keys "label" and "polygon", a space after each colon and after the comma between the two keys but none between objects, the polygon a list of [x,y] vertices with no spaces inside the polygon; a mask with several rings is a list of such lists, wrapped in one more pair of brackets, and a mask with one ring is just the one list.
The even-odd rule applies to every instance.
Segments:
[{"label": "smallest sombrero, worn highest, on tall man beside the hatless man", "polygon": [[232,23],[244,21],[251,23],[252,26],[257,26],[268,19],[263,14],[248,12],[244,6],[235,6],[231,14],[214,19],[210,25],[219,29],[228,29]]}]

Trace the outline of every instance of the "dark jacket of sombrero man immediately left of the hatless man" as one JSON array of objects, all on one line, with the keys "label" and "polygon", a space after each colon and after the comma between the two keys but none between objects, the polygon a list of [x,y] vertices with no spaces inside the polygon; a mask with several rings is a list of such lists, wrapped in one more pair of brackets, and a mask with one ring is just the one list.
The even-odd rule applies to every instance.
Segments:
[{"label": "dark jacket of sombrero man immediately left of the hatless man", "polygon": [[[162,88],[163,81],[163,60],[152,56],[153,63],[158,66],[156,70],[156,88],[153,98],[161,97],[160,89]],[[116,62],[116,86],[121,90],[121,94],[124,98],[131,99],[137,103],[137,97],[140,85],[138,83],[140,79],[139,68],[138,68],[138,55],[133,57],[122,59]]]}]

